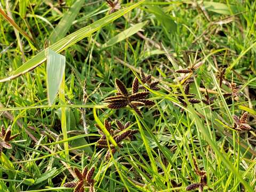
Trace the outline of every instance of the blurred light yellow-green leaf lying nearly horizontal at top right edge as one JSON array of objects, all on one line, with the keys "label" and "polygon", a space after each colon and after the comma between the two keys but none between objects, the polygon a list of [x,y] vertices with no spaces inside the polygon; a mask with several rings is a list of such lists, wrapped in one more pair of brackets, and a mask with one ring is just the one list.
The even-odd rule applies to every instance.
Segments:
[{"label": "blurred light yellow-green leaf lying nearly horizontal at top right edge", "polygon": [[203,4],[204,4],[204,7],[206,10],[212,11],[215,13],[230,15],[231,14],[230,9],[234,14],[238,13],[237,6],[235,6],[235,5],[229,5],[230,6],[230,9],[229,9],[228,5],[224,4],[224,3],[205,2],[204,1]]}]

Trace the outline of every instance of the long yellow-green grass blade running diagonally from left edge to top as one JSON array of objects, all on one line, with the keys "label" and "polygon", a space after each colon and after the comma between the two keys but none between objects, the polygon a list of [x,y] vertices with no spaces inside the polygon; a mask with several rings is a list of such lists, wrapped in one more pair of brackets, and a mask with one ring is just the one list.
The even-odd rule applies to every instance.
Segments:
[{"label": "long yellow-green grass blade running diagonally from left edge to top", "polygon": [[[81,41],[85,37],[89,37],[95,31],[101,29],[102,27],[108,25],[109,23],[115,21],[119,17],[122,17],[125,13],[130,12],[135,7],[139,6],[141,3],[145,2],[145,0],[141,0],[138,3],[135,3],[125,9],[119,10],[113,14],[107,15],[106,17],[93,22],[91,25],[83,27],[82,29],[77,30],[76,32],[66,36],[65,38],[60,39],[57,43],[54,43],[49,47],[49,49],[59,53],[63,50],[66,50],[68,47],[74,45],[75,43]],[[45,50],[39,52],[35,57],[31,58],[27,62],[25,62],[21,67],[15,70],[11,76],[0,79],[0,83],[10,81],[16,77],[19,77],[23,74],[28,73],[29,71],[35,69],[39,65],[41,65],[44,61],[46,61]]]}]

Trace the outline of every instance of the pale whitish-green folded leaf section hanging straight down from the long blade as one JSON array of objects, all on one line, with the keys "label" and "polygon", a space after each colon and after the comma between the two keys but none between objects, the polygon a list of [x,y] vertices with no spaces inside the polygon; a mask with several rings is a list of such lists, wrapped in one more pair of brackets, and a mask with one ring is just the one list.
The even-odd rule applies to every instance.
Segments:
[{"label": "pale whitish-green folded leaf section hanging straight down from the long blade", "polygon": [[60,84],[65,72],[66,59],[63,55],[52,50],[47,54],[47,98],[49,105],[52,105],[59,91]]}]

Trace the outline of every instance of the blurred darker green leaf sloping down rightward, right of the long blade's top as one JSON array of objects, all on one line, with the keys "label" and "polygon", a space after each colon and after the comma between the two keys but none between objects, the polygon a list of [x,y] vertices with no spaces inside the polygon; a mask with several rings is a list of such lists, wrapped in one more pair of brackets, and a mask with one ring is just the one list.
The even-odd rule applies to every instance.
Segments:
[{"label": "blurred darker green leaf sloping down rightward, right of the long blade's top", "polygon": [[166,14],[159,6],[147,5],[147,8],[146,11],[153,13],[156,19],[167,29],[167,31],[175,33],[177,24],[173,21],[170,15]]}]

